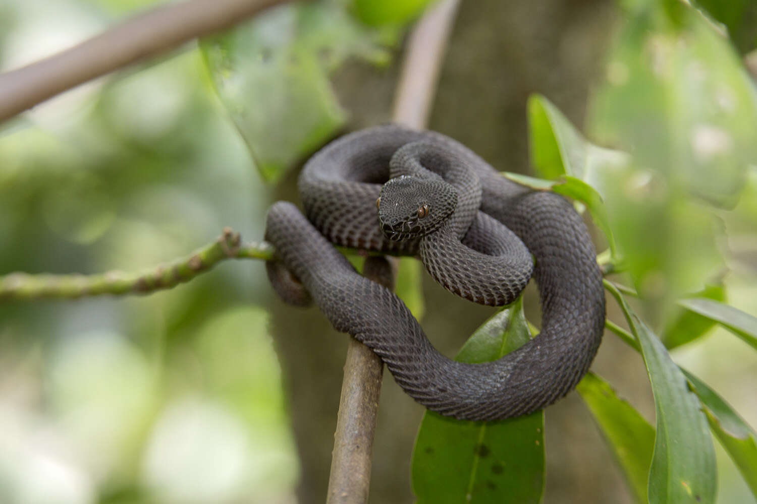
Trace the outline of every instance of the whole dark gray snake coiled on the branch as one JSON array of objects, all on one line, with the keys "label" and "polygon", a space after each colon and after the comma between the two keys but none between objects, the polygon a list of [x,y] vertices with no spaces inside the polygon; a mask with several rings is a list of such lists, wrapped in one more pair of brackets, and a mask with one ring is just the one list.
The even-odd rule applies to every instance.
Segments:
[{"label": "whole dark gray snake coiled on the branch", "polygon": [[[274,286],[301,303],[281,280],[282,271],[294,276],[335,329],[372,348],[429,410],[471,420],[525,415],[587,372],[603,333],[602,276],[584,222],[562,196],[503,178],[444,135],[396,125],[324,147],[299,191],[307,218],[285,202],[268,212],[266,240],[280,260],[268,263]],[[500,360],[450,360],[396,295],[357,274],[332,243],[420,255],[444,287],[485,305],[513,301],[533,271],[541,332]]]}]

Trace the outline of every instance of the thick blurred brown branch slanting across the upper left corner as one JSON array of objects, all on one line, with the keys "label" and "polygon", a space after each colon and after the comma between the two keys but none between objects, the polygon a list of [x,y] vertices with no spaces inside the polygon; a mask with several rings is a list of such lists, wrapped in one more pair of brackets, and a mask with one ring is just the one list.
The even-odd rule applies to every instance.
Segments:
[{"label": "thick blurred brown branch slanting across the upper left corner", "polygon": [[160,5],[43,60],[0,74],[0,122],[67,89],[228,28],[285,0]]}]

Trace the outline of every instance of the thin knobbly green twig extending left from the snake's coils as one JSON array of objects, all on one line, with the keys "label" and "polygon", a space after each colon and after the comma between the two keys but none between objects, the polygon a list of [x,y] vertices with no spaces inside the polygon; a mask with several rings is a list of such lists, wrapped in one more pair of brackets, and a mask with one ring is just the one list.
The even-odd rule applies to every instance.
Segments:
[{"label": "thin knobbly green twig extending left from the snake's coils", "polygon": [[148,294],[188,282],[229,258],[273,259],[266,242],[242,244],[239,233],[224,228],[218,240],[184,258],[143,273],[108,271],[95,275],[11,273],[0,276],[0,300],[80,298],[98,294]]}]

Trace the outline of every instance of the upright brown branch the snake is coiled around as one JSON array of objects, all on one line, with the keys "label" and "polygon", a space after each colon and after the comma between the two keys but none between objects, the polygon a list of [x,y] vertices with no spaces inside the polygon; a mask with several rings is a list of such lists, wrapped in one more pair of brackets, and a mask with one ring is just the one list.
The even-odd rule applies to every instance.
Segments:
[{"label": "upright brown branch the snake is coiled around", "polygon": [[[394,122],[425,128],[458,3],[459,0],[442,0],[410,34],[395,94]],[[388,258],[366,258],[363,274],[393,289],[392,264]],[[373,351],[357,339],[350,339],[334,434],[328,504],[368,501],[382,374],[382,361]]]}]

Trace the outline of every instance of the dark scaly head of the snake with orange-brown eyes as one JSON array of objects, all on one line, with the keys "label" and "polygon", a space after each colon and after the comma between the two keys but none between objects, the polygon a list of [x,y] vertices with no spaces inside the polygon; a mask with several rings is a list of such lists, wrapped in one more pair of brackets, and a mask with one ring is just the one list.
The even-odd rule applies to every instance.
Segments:
[{"label": "dark scaly head of the snake with orange-brown eyes", "polygon": [[410,240],[444,224],[457,207],[457,191],[441,178],[403,175],[384,184],[376,204],[385,236]]}]

